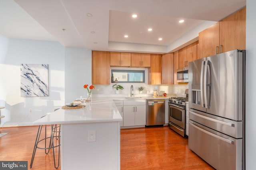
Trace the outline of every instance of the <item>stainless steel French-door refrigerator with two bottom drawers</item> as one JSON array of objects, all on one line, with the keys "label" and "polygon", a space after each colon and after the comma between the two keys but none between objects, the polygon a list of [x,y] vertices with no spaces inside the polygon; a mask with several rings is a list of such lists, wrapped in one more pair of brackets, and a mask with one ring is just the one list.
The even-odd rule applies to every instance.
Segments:
[{"label": "stainless steel French-door refrigerator with two bottom drawers", "polygon": [[217,170],[245,169],[245,51],[189,63],[188,146]]}]

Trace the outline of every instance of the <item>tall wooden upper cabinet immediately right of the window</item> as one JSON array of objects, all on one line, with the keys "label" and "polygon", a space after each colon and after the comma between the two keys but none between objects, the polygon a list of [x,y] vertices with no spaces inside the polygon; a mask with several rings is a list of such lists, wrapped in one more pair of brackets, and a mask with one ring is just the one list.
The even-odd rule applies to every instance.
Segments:
[{"label": "tall wooden upper cabinet immediately right of the window", "polygon": [[162,55],[151,54],[151,67],[148,69],[148,84],[161,84]]}]

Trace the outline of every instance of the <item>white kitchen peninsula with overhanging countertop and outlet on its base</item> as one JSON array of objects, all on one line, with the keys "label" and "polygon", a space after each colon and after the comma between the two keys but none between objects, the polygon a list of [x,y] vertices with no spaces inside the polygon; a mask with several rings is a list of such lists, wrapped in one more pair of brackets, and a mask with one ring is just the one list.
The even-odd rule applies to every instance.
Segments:
[{"label": "white kitchen peninsula with overhanging countertop and outlet on its base", "polygon": [[120,170],[120,121],[114,102],[104,99],[85,109],[58,109],[33,124],[61,125],[62,170]]}]

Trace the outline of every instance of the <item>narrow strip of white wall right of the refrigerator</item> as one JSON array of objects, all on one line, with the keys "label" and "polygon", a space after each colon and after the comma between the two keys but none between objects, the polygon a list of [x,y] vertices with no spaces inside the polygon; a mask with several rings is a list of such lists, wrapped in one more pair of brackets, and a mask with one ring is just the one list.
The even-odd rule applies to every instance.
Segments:
[{"label": "narrow strip of white wall right of the refrigerator", "polygon": [[256,1],[246,0],[246,169],[255,169],[256,153]]}]

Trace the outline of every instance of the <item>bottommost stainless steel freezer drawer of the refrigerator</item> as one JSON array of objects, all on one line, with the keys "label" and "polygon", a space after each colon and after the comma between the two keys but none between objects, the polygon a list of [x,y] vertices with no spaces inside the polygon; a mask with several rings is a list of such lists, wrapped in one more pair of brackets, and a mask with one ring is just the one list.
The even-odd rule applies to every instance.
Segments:
[{"label": "bottommost stainless steel freezer drawer of the refrigerator", "polygon": [[242,139],[234,139],[192,120],[188,147],[217,170],[242,169]]}]

